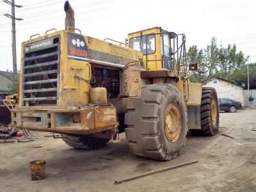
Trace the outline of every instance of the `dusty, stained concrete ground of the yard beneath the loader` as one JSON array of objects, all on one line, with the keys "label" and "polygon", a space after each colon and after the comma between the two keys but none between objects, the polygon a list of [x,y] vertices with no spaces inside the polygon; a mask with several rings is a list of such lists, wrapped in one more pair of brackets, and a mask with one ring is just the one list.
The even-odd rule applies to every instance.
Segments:
[{"label": "dusty, stained concrete ground of the yard beneath the loader", "polygon": [[[124,135],[94,151],[76,150],[61,139],[27,143],[0,143],[0,191],[255,191],[256,110],[220,113],[220,133],[213,137],[188,136],[184,152],[172,161],[133,156]],[[225,133],[234,137],[221,136]],[[31,181],[29,161],[45,159],[47,177]],[[148,177],[113,184],[150,170],[198,160]]]}]

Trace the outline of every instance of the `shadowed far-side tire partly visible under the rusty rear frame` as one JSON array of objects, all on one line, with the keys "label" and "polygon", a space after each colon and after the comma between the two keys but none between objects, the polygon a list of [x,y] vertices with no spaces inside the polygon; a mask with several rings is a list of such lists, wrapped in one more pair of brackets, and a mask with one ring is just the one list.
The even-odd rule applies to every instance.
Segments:
[{"label": "shadowed far-side tire partly visible under the rusty rear frame", "polygon": [[77,136],[74,134],[61,134],[62,140],[70,147],[78,149],[93,150],[102,148],[109,140],[102,138],[93,138],[92,136]]}]

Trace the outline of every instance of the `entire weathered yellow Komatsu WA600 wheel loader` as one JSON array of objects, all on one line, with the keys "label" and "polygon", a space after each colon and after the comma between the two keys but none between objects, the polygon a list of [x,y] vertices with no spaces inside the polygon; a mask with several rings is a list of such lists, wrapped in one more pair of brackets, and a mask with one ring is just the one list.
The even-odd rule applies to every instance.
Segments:
[{"label": "entire weathered yellow Komatsu WA600 wheel loader", "polygon": [[74,148],[104,146],[125,132],[131,152],[179,156],[187,132],[213,136],[219,109],[214,88],[191,83],[186,36],[150,28],[125,43],[82,35],[65,2],[65,30],[22,43],[19,104],[11,126],[57,132]]}]

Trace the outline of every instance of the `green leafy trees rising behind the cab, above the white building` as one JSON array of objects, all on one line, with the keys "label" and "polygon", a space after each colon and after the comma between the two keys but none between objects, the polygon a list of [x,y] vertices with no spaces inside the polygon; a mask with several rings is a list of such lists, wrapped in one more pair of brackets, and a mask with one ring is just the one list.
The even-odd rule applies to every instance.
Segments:
[{"label": "green leafy trees rising behind the cab, above the white building", "polygon": [[232,81],[232,75],[248,61],[243,52],[237,52],[236,45],[218,48],[211,43],[205,49],[193,45],[187,52],[189,64],[197,64],[198,70],[191,76],[191,81],[205,81],[211,77],[221,77]]}]

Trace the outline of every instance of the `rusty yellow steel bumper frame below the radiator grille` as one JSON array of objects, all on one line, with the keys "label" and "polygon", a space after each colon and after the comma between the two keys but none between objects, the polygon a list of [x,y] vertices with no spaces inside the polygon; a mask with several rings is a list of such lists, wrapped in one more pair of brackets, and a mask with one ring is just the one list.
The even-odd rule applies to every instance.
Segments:
[{"label": "rusty yellow steel bumper frame below the radiator grille", "polygon": [[[12,127],[66,134],[93,134],[114,130],[117,125],[114,106],[69,109],[12,109]],[[79,113],[79,122],[72,115]],[[63,121],[64,120],[64,121]]]}]

